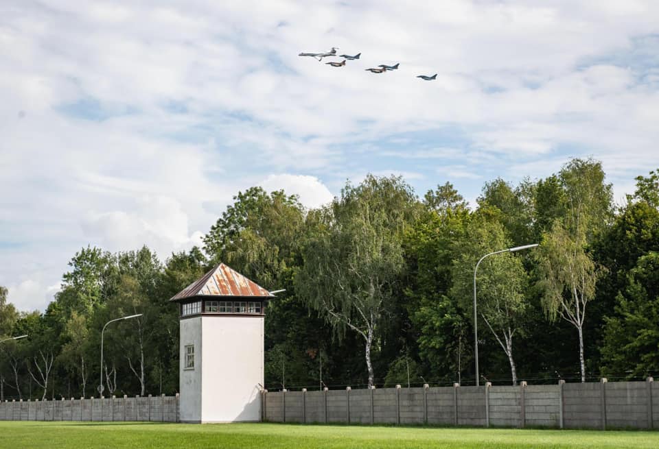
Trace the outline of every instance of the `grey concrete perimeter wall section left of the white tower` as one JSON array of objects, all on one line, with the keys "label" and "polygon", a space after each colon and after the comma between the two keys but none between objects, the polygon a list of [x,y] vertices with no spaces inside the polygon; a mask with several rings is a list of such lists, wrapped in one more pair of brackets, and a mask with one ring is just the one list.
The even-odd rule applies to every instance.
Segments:
[{"label": "grey concrete perimeter wall section left of the white tower", "polygon": [[178,395],[0,402],[0,421],[178,422]]}]

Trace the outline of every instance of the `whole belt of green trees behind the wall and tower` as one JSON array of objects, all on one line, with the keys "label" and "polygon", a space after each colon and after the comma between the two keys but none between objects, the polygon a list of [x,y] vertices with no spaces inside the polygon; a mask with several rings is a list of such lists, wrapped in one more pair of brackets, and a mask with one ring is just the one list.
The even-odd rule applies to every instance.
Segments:
[{"label": "whole belt of green trees behind the wall and tower", "polygon": [[[0,289],[1,398],[174,393],[178,308],[167,300],[222,261],[270,290],[266,387],[474,382],[478,266],[481,381],[554,383],[659,371],[659,171],[622,206],[601,164],[421,199],[402,178],[347,184],[332,204],[238,193],[203,249],[80,250],[44,313]],[[104,366],[100,333],[108,326]],[[218,342],[220,343],[220,342]],[[229,343],[230,344],[230,343]],[[321,374],[322,373],[322,374]]]}]

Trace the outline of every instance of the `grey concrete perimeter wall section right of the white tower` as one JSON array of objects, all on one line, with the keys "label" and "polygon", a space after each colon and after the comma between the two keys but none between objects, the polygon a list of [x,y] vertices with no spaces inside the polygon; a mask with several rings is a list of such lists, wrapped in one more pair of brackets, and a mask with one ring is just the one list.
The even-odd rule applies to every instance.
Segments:
[{"label": "grey concrete perimeter wall section right of the white tower", "polygon": [[[551,428],[659,428],[659,383],[264,391],[263,420]],[[1,417],[1,415],[0,415]]]}]

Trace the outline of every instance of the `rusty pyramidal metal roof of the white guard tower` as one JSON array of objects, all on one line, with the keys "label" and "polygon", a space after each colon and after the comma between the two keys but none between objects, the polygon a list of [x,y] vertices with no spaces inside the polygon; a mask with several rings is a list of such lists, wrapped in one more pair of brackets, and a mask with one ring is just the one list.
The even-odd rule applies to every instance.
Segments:
[{"label": "rusty pyramidal metal roof of the white guard tower", "polygon": [[193,296],[258,296],[272,298],[269,291],[249,280],[231,267],[220,263],[199,280],[174,295],[170,301],[183,300]]}]

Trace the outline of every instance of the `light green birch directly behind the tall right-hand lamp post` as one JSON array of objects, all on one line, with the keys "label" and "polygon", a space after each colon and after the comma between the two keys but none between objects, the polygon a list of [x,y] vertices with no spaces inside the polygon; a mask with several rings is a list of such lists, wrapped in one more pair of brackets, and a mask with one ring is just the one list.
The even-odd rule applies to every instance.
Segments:
[{"label": "light green birch directly behind the tall right-hand lamp post", "polygon": [[[465,239],[459,243],[461,254],[454,261],[451,291],[456,298],[461,298],[465,308],[473,307],[473,276],[478,260],[485,254],[510,247],[510,243],[498,221],[478,215],[470,221]],[[513,340],[524,331],[526,284],[527,274],[522,262],[511,253],[485,258],[479,267],[477,310],[507,356],[513,385],[517,385]]]}]

